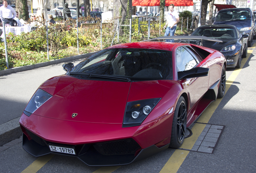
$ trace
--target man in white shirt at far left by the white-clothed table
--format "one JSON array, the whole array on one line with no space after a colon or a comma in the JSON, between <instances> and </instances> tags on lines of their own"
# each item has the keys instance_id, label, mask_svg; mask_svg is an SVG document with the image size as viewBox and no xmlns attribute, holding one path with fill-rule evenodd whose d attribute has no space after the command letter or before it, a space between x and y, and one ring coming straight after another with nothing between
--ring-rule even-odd
<instances>
[{"instance_id":1,"label":"man in white shirt at far left by the white-clothed table","mask_svg":"<svg viewBox=\"0 0 256 173\"><path fill-rule=\"evenodd\" d=\"M14 26L13 19L16 16L16 12L8 5L6 0L3 0L3 4L4 5L0 7L0 19L11 26Z\"/></svg>"}]
</instances>

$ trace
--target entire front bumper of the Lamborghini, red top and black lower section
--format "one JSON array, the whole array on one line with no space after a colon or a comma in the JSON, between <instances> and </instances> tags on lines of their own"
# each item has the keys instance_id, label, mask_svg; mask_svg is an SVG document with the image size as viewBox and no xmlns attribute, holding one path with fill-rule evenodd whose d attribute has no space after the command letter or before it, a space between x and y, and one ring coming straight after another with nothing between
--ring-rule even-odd
<instances>
[{"instance_id":1,"label":"entire front bumper of the Lamborghini, red top and black lower section","mask_svg":"<svg viewBox=\"0 0 256 173\"><path fill-rule=\"evenodd\" d=\"M54 153L78 157L90 166L109 166L126 165L168 148L172 119L173 113L144 125L122 128L122 124L83 123L23 114L20 125L23 149L35 157ZM72 148L75 155L51 151L49 145Z\"/></svg>"}]
</instances>

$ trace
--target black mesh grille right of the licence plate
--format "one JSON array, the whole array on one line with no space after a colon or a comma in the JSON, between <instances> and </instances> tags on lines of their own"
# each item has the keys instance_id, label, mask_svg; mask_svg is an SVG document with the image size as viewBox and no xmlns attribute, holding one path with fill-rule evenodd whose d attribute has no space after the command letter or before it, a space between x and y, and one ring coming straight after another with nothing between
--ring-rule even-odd
<instances>
[{"instance_id":1,"label":"black mesh grille right of the licence plate","mask_svg":"<svg viewBox=\"0 0 256 173\"><path fill-rule=\"evenodd\" d=\"M134 155L140 149L133 139L96 143L93 147L102 155Z\"/></svg>"}]
</instances>

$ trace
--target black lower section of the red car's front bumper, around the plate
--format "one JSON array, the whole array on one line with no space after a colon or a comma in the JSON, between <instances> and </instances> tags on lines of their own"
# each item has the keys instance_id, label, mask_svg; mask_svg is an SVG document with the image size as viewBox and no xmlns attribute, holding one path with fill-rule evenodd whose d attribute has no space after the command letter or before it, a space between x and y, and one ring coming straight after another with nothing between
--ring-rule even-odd
<instances>
[{"instance_id":1,"label":"black lower section of the red car's front bumper, around the plate","mask_svg":"<svg viewBox=\"0 0 256 173\"><path fill-rule=\"evenodd\" d=\"M33 133L26 130L32 137L31 140L23 133L23 149L35 157L48 154L61 154L50 151L49 145L57 145L60 147L74 148L77 157L89 166L115 166L127 165L135 161L145 159L151 155L159 153L169 147L169 144L163 147L152 145L145 149L141 149L138 143L133 139L123 139L117 141L108 141L97 144L83 145L63 145L50 143L37 137Z\"/></svg>"}]
</instances>

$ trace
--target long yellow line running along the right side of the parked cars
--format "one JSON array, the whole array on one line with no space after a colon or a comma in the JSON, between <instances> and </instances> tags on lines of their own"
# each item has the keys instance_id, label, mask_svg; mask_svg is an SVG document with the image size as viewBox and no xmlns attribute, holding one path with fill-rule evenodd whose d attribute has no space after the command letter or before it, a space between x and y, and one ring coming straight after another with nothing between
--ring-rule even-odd
<instances>
[{"instance_id":1,"label":"long yellow line running along the right side of the parked cars","mask_svg":"<svg viewBox=\"0 0 256 173\"><path fill-rule=\"evenodd\" d=\"M252 48L255 48L256 43L254 43ZM243 68L244 64L247 62L248 58L251 56L253 50L248 50L247 51L247 57L242 59L241 62L241 67L238 69L235 69L232 74L229 76L229 78L227 79L226 82L226 91L225 93L227 93L229 87L231 86L231 84L233 84L233 82L235 81L235 78L238 76L239 72L241 71L241 69ZM219 106L219 103L221 103L222 99L217 99L215 102L211 103L207 109L202 113L202 115L200 116L200 118L198 119L198 123L208 123L210 118L212 117L213 113L215 112L215 110L217 109L217 107ZM199 126L198 126L199 125ZM203 125L203 124L202 124ZM183 145L181 146L181 148L184 149L192 149L192 144L194 145L194 143L196 142L195 140L199 137L199 135L201 134L201 132L203 131L204 128L202 128L203 126L200 124L195 124L192 128L192 132L193 135L191 137L188 137L184 140ZM195 127L196 126L196 127ZM195 127L195 128L194 128ZM196 133L194 133L194 131L196 130ZM194 137L193 137L194 136ZM190 139L191 138L191 139ZM191 144L189 144L191 143ZM181 150L176 149L175 152L178 151L179 153L181 152ZM175 153L174 152L174 153ZM186 156L188 155L189 151L182 151L183 153L187 152ZM167 161L167 163L165 164L165 166L162 168L162 170L160 171L160 173L176 173L178 171L178 169L180 168L180 166L182 165L183 161L186 159L186 156L184 158L184 156L182 157L182 159L180 159L179 157L181 157L180 155L174 154L171 155L170 159ZM173 168L173 169L171 169Z\"/></svg>"}]
</instances>

